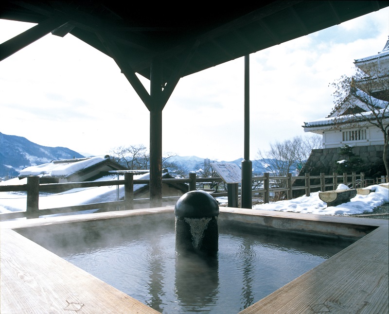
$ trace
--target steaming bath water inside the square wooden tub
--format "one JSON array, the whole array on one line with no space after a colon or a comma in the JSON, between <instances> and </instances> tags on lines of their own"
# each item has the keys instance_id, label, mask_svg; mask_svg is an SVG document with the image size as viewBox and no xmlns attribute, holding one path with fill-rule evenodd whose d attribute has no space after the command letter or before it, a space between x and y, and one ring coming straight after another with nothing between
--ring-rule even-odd
<instances>
[{"instance_id":1,"label":"steaming bath water inside the square wooden tub","mask_svg":"<svg viewBox=\"0 0 389 314\"><path fill-rule=\"evenodd\" d=\"M238 313L351 244L312 235L222 227L217 256L204 258L176 253L174 223L155 226L94 227L85 234L65 232L66 226L55 233L58 227L51 227L46 230L50 237L26 236L169 314Z\"/></svg>"}]
</instances>

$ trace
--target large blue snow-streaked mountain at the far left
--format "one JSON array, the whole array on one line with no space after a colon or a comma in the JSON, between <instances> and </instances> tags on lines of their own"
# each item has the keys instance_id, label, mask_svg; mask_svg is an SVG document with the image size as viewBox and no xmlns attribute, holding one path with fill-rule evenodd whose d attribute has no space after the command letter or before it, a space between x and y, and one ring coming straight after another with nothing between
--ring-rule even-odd
<instances>
[{"instance_id":1,"label":"large blue snow-streaked mountain at the far left","mask_svg":"<svg viewBox=\"0 0 389 314\"><path fill-rule=\"evenodd\" d=\"M82 158L81 154L66 147L48 147L26 138L0 132L0 178L18 176L19 171L52 160Z\"/></svg>"}]
</instances>

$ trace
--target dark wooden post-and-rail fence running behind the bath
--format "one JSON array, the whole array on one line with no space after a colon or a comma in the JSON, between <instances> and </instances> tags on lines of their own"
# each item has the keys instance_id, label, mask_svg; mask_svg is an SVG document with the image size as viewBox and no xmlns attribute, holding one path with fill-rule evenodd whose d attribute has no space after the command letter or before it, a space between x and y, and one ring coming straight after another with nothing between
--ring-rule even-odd
<instances>
[{"instance_id":1,"label":"dark wooden post-and-rail fence running behind the bath","mask_svg":"<svg viewBox=\"0 0 389 314\"><path fill-rule=\"evenodd\" d=\"M293 186L293 181L297 179L303 179L304 186ZM320 184L311 184L311 180L320 180ZM335 190L339 183L352 184L353 188L364 187L364 174L332 174L325 175L320 174L317 176L311 176L305 174L304 176L270 176L265 173L263 176L252 177L252 180L263 181L263 188L254 189L252 193L263 194L263 202L268 203L270 200L271 192L286 192L286 198L291 199L293 197L294 190L305 190L305 195L309 196L312 189L320 189L321 191ZM285 187L274 188L273 182L276 180L286 180ZM188 191L196 190L196 184L201 182L223 182L220 177L212 178L197 178L195 173L190 173L188 178L182 179L162 179L162 183L188 183ZM330 181L330 183L328 183ZM148 198L134 199L134 184L148 184L148 179L134 180L132 173L125 173L124 180L109 180L109 181L89 181L89 182L70 182L70 183L46 183L40 184L38 176L27 177L27 184L24 185L0 185L0 192L27 192L27 204L26 211L10 212L0 214L1 220L8 220L20 217L36 218L42 215L68 213L73 211L81 211L88 209L99 209L100 211L110 211L118 207L124 207L124 209L134 209L135 204L147 204ZM64 190L70 190L75 188L88 188L88 187L102 187L102 186L114 186L124 185L124 200L74 205L67 207L58 207L50 209L39 209L39 191L45 192L58 192ZM228 184L227 192L214 192L213 197L228 196L228 206L238 207L238 184ZM162 197L162 201L177 201L180 196L168 196Z\"/></svg>"}]
</instances>

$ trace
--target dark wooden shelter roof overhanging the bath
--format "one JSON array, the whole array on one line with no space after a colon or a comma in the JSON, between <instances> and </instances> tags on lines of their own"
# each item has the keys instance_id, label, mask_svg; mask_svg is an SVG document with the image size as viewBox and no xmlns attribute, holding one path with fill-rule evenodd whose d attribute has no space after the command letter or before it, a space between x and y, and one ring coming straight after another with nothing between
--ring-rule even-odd
<instances>
[{"instance_id":1,"label":"dark wooden shelter roof overhanging the bath","mask_svg":"<svg viewBox=\"0 0 389 314\"><path fill-rule=\"evenodd\" d=\"M248 2L248 1L246 1ZM38 23L2 45L4 57L53 32L69 32L150 78L163 64L163 83L377 11L389 1L251 1L211 6L166 2L2 1L1 18ZM55 31L54 31L55 30ZM24 42L23 42L24 41Z\"/></svg>"}]
</instances>

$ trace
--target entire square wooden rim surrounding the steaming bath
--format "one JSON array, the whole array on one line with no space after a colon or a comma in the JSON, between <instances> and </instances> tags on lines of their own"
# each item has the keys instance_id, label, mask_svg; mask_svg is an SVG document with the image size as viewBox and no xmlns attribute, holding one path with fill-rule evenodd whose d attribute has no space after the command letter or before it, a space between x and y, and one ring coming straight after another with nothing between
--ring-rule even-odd
<instances>
[{"instance_id":1,"label":"entire square wooden rim surrounding the steaming bath","mask_svg":"<svg viewBox=\"0 0 389 314\"><path fill-rule=\"evenodd\" d=\"M26 239L12 229L145 214L169 214L173 207L115 211L0 223L0 313L158 313ZM265 227L325 232L332 236L368 235L332 258L248 307L241 314L273 313L388 313L387 220L333 217L251 209L221 208L222 219ZM116 219L115 219L116 218Z\"/></svg>"}]
</instances>

